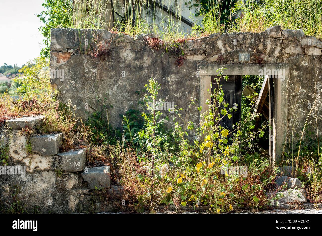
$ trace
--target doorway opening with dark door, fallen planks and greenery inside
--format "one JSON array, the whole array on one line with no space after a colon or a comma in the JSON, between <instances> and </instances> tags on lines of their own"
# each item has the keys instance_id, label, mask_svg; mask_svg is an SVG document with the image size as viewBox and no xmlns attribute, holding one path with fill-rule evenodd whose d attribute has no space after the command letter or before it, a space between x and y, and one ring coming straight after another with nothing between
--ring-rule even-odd
<instances>
[{"instance_id":1,"label":"doorway opening with dark door, fallen planks and greenery inside","mask_svg":"<svg viewBox=\"0 0 322 236\"><path fill-rule=\"evenodd\" d=\"M266 81L264 88L265 76L260 75L229 75L228 79L221 79L219 84L223 90L223 99L228 103L226 110L232 109L231 115L222 116L219 124L221 127L229 130L228 139L233 137L233 134L237 132L237 125L240 121L247 120L244 129L247 132L257 132L258 129L263 128L260 137L254 140L254 144L251 145L251 152L258 152L268 156L271 156L270 150L272 149L272 129L269 128L270 120L272 123L273 108L274 108L274 84L273 79L269 78ZM212 92L214 88L218 86L218 76L211 76ZM269 83L269 84L267 84ZM264 86L264 87L263 87ZM268 87L269 86L269 90ZM266 94L260 94L261 90ZM258 97L263 104L261 104L260 110L258 110L258 104L256 101ZM211 98L213 103L213 98ZM270 104L270 105L269 105ZM257 107L256 107L257 106ZM237 108L237 109L236 109ZM257 110L256 110L257 109ZM247 119L250 113L260 113L259 117L255 117L251 120ZM270 113L270 114L269 114ZM231 143L231 142L230 142Z\"/></svg>"}]
</instances>

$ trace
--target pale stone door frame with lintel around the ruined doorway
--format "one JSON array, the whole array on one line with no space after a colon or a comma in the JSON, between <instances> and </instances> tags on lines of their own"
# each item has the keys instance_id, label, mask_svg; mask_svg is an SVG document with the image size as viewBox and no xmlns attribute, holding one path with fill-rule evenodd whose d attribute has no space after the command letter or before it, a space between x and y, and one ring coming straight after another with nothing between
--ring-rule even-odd
<instances>
[{"instance_id":1,"label":"pale stone door frame with lintel around the ruined doorway","mask_svg":"<svg viewBox=\"0 0 322 236\"><path fill-rule=\"evenodd\" d=\"M202 106L201 113L207 110L206 101L210 101L211 91L211 76L218 75L217 70L220 68L227 68L223 70L223 75L272 75L276 71L282 72L273 76L274 83L274 107L273 107L273 145L272 145L272 159L273 164L279 161L282 155L282 148L286 139L287 125L288 125L288 103L287 103L287 85L289 80L289 65L288 64L225 64L215 65L207 64L198 67L200 76L200 100L199 105Z\"/></svg>"}]
</instances>

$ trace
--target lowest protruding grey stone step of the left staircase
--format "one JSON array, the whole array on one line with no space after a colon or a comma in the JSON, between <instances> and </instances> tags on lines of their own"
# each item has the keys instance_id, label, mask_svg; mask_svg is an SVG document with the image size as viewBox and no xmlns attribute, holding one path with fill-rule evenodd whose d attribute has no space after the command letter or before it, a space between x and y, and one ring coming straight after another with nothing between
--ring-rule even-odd
<instances>
[{"instance_id":1,"label":"lowest protruding grey stone step of the left staircase","mask_svg":"<svg viewBox=\"0 0 322 236\"><path fill-rule=\"evenodd\" d=\"M91 189L95 189L95 187L109 188L111 185L111 168L110 166L88 168L82 173L82 177Z\"/></svg>"}]
</instances>

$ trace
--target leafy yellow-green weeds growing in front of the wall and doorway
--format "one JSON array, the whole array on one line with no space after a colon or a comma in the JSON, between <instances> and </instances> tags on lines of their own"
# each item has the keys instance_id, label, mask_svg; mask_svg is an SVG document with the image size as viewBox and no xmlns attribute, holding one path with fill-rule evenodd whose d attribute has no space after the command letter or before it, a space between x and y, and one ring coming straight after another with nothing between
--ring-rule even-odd
<instances>
[{"instance_id":1,"label":"leafy yellow-green weeds growing in front of the wall and doorway","mask_svg":"<svg viewBox=\"0 0 322 236\"><path fill-rule=\"evenodd\" d=\"M241 147L248 146L261 130L253 132L245 127L253 118L251 114L235 124L235 130L220 125L223 117L232 118L232 112L237 108L228 109L220 85L220 80L227 80L227 76L223 76L223 69L218 74L213 92L209 92L213 103L207 101L204 104L208 109L201 114L200 126L196 127L192 122L182 123L181 109L174 109L175 128L171 135L163 132L160 126L165 121L162 112L157 109L162 102L157 99L160 84L151 78L146 85L144 102L148 113L142 114L145 125L137 134L144 140L146 149L144 158L138 156L137 161L147 172L135 171L141 168L128 159L123 167L128 174L122 179L125 189L137 189L137 195L132 195L136 197L134 208L137 211L149 205L151 195L156 204L211 205L217 213L231 211L232 204L248 207L266 205L265 190L271 188L274 170L268 160L252 156L241 158ZM197 109L200 111L202 108ZM200 140L192 142L189 134L200 137ZM223 166L232 167L242 162L249 164L249 176L242 178L221 174ZM169 168L172 163L173 167ZM131 166L136 166L135 170Z\"/></svg>"}]
</instances>

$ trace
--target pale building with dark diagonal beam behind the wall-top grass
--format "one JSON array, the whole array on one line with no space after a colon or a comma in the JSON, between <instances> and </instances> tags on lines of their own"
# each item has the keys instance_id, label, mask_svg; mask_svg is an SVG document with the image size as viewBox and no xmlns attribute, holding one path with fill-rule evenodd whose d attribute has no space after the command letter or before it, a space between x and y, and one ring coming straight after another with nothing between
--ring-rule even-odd
<instances>
[{"instance_id":1,"label":"pale building with dark diagonal beam behind the wall-top grass","mask_svg":"<svg viewBox=\"0 0 322 236\"><path fill-rule=\"evenodd\" d=\"M95 0L92 0L95 2ZM146 20L149 25L155 24L160 31L166 27L175 27L183 32L191 30L191 26L202 20L202 16L196 16L200 11L200 2L196 0L97 0L95 9L98 18L105 19L106 30L114 26L118 29L125 22L134 22L138 18ZM74 0L74 9L80 9L78 17L86 15L87 9L84 5L77 5L82 0ZM103 11L101 9L104 8ZM77 21L77 20L76 20ZM114 24L113 22L119 22ZM171 22L169 24L169 22ZM172 24L172 25L171 25Z\"/></svg>"}]
</instances>

